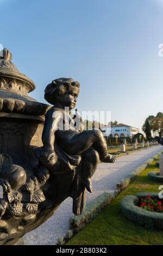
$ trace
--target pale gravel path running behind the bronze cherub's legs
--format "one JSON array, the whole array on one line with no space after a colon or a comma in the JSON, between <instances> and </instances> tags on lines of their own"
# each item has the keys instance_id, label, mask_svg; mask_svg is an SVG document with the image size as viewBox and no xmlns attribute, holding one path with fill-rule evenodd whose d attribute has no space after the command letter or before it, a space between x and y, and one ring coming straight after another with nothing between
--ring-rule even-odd
<instances>
[{"instance_id":1,"label":"pale gravel path running behind the bronze cherub's legs","mask_svg":"<svg viewBox=\"0 0 163 256\"><path fill-rule=\"evenodd\" d=\"M114 191L118 181L161 150L163 150L161 145L155 145L129 155L120 156L114 164L99 163L96 173L92 177L94 191L93 193L86 192L86 204L103 192ZM24 236L26 245L54 245L58 237L64 236L69 229L71 216L72 198L67 198L51 218Z\"/></svg>"}]
</instances>

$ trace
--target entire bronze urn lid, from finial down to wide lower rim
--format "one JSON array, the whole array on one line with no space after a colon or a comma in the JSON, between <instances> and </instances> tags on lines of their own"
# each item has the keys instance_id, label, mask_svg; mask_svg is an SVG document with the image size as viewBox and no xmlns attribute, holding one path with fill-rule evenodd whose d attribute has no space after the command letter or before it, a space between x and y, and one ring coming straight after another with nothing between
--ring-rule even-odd
<instances>
[{"instance_id":1,"label":"entire bronze urn lid, from finial down to wide lower rim","mask_svg":"<svg viewBox=\"0 0 163 256\"><path fill-rule=\"evenodd\" d=\"M0 55L0 117L1 112L45 115L49 106L28 95L35 89L35 84L17 69L11 59L11 52L4 48Z\"/></svg>"}]
</instances>

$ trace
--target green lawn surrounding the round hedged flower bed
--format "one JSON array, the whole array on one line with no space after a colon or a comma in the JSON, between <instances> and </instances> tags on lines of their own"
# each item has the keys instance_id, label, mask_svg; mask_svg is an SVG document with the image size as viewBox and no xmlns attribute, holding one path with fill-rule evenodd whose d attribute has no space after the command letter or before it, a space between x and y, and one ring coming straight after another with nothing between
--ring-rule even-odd
<instances>
[{"instance_id":1,"label":"green lawn surrounding the round hedged flower bed","mask_svg":"<svg viewBox=\"0 0 163 256\"><path fill-rule=\"evenodd\" d=\"M91 223L74 235L66 245L163 245L163 230L150 230L123 217L120 203L127 194L137 192L159 192L147 174L155 166L154 161L115 200L108 205Z\"/></svg>"}]
</instances>

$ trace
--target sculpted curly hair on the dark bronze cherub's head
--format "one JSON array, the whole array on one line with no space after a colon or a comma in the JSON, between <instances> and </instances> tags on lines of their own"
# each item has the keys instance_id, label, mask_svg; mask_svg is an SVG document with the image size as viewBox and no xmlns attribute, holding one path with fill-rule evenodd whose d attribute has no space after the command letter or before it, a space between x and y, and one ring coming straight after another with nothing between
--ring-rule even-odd
<instances>
[{"instance_id":1,"label":"sculpted curly hair on the dark bronze cherub's head","mask_svg":"<svg viewBox=\"0 0 163 256\"><path fill-rule=\"evenodd\" d=\"M72 78L58 78L49 83L45 88L45 99L50 104L54 105L57 96L68 93L69 88L73 86L80 87L79 82L74 81Z\"/></svg>"}]
</instances>

